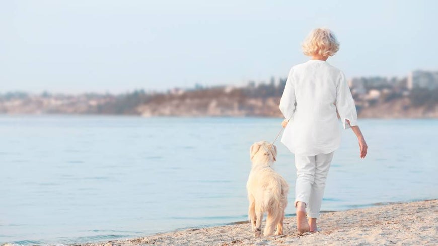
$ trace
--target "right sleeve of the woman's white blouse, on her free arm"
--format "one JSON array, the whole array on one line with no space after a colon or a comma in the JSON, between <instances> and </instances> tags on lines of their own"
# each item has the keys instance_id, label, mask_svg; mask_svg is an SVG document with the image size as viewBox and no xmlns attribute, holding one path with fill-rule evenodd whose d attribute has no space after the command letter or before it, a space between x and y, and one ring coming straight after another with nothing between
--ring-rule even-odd
<instances>
[{"instance_id":1,"label":"right sleeve of the woman's white blouse, on her free arm","mask_svg":"<svg viewBox=\"0 0 438 246\"><path fill-rule=\"evenodd\" d=\"M341 71L336 84L336 108L344 129L357 126L357 111L353 96L347 85L345 74ZM350 122L348 125L347 120Z\"/></svg>"}]
</instances>

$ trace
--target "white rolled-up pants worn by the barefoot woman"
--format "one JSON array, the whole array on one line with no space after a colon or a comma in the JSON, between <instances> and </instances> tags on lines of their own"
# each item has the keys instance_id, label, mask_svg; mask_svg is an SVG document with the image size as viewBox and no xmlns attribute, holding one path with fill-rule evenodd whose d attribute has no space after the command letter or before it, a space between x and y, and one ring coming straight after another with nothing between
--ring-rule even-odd
<instances>
[{"instance_id":1,"label":"white rolled-up pants worn by the barefoot woman","mask_svg":"<svg viewBox=\"0 0 438 246\"><path fill-rule=\"evenodd\" d=\"M297 202L306 203L309 218L319 218L325 181L333 153L315 156L295 155L295 167L297 168L295 207L297 207Z\"/></svg>"}]
</instances>

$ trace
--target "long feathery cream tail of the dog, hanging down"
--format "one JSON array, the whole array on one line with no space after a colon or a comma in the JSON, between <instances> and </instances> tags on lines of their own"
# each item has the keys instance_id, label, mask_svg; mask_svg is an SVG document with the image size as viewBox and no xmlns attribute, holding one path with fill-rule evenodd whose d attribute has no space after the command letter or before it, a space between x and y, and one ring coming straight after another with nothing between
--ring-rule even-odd
<instances>
[{"instance_id":1,"label":"long feathery cream tail of the dog, hanging down","mask_svg":"<svg viewBox=\"0 0 438 246\"><path fill-rule=\"evenodd\" d=\"M284 210L287 206L287 193L289 192L289 185L283 179L278 184L278 189L273 193L272 199L269 202L268 217L266 218L266 226L264 236L271 236L274 234L276 225L278 225L284 218Z\"/></svg>"}]
</instances>

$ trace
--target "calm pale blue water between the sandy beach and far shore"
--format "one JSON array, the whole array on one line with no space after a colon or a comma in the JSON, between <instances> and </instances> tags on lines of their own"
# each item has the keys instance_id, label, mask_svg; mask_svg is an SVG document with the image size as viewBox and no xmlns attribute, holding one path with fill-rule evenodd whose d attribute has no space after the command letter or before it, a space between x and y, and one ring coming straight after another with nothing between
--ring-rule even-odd
<instances>
[{"instance_id":1,"label":"calm pale blue water between the sandy beach and far shore","mask_svg":"<svg viewBox=\"0 0 438 246\"><path fill-rule=\"evenodd\" d=\"M0 116L0 244L104 241L247 220L249 148L273 141L281 121ZM322 210L438 198L438 120L359 125L367 158L343 130ZM291 215L294 155L275 144Z\"/></svg>"}]
</instances>

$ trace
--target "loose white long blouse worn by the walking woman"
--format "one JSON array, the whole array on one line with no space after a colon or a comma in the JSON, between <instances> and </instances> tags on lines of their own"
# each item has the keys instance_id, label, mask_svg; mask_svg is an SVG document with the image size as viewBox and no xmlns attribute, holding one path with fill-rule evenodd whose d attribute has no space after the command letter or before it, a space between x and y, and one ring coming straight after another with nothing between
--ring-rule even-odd
<instances>
[{"instance_id":1,"label":"loose white long blouse worn by the walking woman","mask_svg":"<svg viewBox=\"0 0 438 246\"><path fill-rule=\"evenodd\" d=\"M354 100L345 74L322 60L293 66L280 100L280 111L289 120L281 142L295 154L330 153L341 143L339 113L344 129L357 125Z\"/></svg>"}]
</instances>

